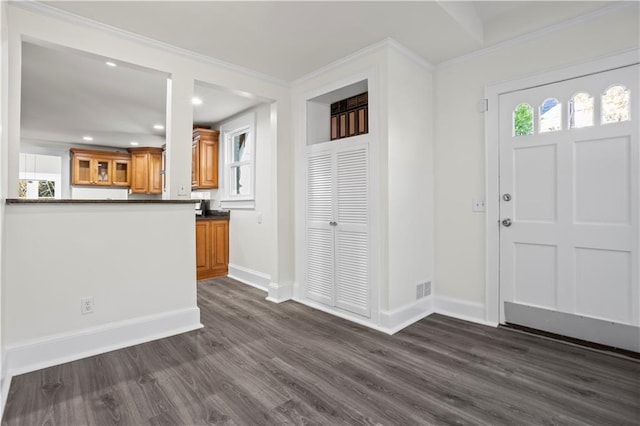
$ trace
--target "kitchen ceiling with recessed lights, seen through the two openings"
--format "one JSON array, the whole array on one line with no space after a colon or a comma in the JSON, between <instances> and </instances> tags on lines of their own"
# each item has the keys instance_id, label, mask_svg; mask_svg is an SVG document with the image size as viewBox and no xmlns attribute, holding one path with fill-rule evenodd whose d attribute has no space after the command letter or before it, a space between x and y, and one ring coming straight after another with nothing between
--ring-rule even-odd
<instances>
[{"instance_id":1,"label":"kitchen ceiling with recessed lights, seen through the two openings","mask_svg":"<svg viewBox=\"0 0 640 426\"><path fill-rule=\"evenodd\" d=\"M166 122L167 74L46 43L22 46L21 132L27 143L165 143L165 130L154 125ZM202 104L194 105L193 121L208 126L262 102L199 82L194 95Z\"/></svg>"}]
</instances>

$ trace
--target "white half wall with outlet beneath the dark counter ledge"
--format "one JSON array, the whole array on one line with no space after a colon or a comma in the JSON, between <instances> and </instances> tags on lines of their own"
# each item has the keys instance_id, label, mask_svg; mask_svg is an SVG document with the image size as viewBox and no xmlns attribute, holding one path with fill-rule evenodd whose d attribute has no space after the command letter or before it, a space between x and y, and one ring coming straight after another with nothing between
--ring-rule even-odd
<instances>
[{"instance_id":1,"label":"white half wall with outlet beneath the dark counter ledge","mask_svg":"<svg viewBox=\"0 0 640 426\"><path fill-rule=\"evenodd\" d=\"M7 205L5 219L6 346L196 307L191 204Z\"/></svg>"}]
</instances>

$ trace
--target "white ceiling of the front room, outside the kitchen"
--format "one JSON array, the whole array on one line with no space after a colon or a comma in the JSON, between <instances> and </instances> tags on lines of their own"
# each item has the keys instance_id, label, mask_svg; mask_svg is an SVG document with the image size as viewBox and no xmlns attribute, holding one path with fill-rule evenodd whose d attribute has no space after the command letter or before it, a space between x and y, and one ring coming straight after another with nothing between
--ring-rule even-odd
<instances>
[{"instance_id":1,"label":"white ceiling of the front room, outside the kitchen","mask_svg":"<svg viewBox=\"0 0 640 426\"><path fill-rule=\"evenodd\" d=\"M52 1L52 7L294 81L393 38L432 64L610 1ZM170 25L168 25L170 23Z\"/></svg>"}]
</instances>

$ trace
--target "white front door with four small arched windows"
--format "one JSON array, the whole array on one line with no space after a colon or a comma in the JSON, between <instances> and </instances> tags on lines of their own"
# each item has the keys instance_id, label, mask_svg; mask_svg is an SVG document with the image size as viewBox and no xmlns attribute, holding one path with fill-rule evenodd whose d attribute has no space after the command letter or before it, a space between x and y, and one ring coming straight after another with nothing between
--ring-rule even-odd
<instances>
[{"instance_id":1,"label":"white front door with four small arched windows","mask_svg":"<svg viewBox=\"0 0 640 426\"><path fill-rule=\"evenodd\" d=\"M500 95L500 320L640 351L638 65Z\"/></svg>"}]
</instances>

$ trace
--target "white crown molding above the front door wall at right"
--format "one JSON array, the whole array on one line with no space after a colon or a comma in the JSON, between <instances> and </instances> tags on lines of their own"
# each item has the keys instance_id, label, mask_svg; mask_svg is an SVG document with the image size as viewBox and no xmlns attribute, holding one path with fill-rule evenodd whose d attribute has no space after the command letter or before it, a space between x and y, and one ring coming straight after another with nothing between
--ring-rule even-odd
<instances>
[{"instance_id":1,"label":"white crown molding above the front door wall at right","mask_svg":"<svg viewBox=\"0 0 640 426\"><path fill-rule=\"evenodd\" d=\"M509 40L505 40L505 41L502 41L500 43L496 43L494 45L491 45L489 47L485 47L484 49L475 50L475 51L473 51L471 53L468 53L466 55L458 56L456 58L440 62L439 64L436 65L435 68L437 70L445 69L445 68L448 68L448 67L453 66L453 65L457 65L457 64L460 64L460 63L464 63L464 62L470 61L470 60L475 59L475 58L479 58L479 57L484 56L484 55L488 55L488 54L496 52L498 50L507 49L507 48L510 48L510 47L517 46L518 44L521 44L521 43L526 43L526 42L529 42L529 41L533 41L533 40L545 37L545 36L547 36L549 34L557 32L557 31L564 30L564 29L567 29L567 28L571 28L571 27L574 27L576 25L592 21L592 20L597 19L597 18L599 18L601 16L605 16L605 15L608 15L608 14L613 13L613 12L617 12L617 11L620 11L620 10L624 10L624 9L627 9L627 8L634 7L635 5L637 5L636 1L620 1L620 2L616 2L616 3L614 3L614 4L610 5L610 6L605 6L605 7L602 7L600 9L598 9L598 10L594 10L592 12L585 13L584 15L580 15L580 16L577 16L575 18L568 19L566 21L563 21L563 22L560 22L560 23L557 23L557 24L549 25L547 27L541 28L541 29L536 30L536 31L532 31L530 33L522 34L520 36L511 38Z\"/></svg>"}]
</instances>

